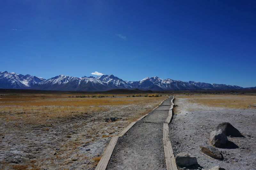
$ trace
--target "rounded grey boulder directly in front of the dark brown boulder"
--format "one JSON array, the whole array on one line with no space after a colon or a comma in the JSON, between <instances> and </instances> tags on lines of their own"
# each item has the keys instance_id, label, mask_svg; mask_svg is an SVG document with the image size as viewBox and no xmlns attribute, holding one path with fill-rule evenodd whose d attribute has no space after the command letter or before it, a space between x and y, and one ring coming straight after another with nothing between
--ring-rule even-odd
<instances>
[{"instance_id":1,"label":"rounded grey boulder directly in front of the dark brown boulder","mask_svg":"<svg viewBox=\"0 0 256 170\"><path fill-rule=\"evenodd\" d=\"M228 142L227 135L220 129L211 132L210 141L213 146L224 147Z\"/></svg>"}]
</instances>

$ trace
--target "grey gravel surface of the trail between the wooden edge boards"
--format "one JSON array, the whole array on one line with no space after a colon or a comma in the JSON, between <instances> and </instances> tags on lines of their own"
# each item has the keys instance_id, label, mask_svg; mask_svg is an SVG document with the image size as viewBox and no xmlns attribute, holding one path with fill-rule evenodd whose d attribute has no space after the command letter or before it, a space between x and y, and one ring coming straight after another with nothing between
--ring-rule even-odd
<instances>
[{"instance_id":1,"label":"grey gravel surface of the trail between the wooden edge boards","mask_svg":"<svg viewBox=\"0 0 256 170\"><path fill-rule=\"evenodd\" d=\"M166 169L163 123L171 99L172 96L118 139L106 169Z\"/></svg>"}]
</instances>

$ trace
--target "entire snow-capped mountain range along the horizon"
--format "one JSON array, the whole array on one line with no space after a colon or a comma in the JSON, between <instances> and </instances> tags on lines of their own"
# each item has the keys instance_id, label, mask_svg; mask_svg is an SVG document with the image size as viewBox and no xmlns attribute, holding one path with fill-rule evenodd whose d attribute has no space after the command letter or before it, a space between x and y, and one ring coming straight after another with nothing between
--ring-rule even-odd
<instances>
[{"instance_id":1,"label":"entire snow-capped mountain range along the horizon","mask_svg":"<svg viewBox=\"0 0 256 170\"><path fill-rule=\"evenodd\" d=\"M226 84L210 84L195 81L175 81L146 77L141 81L123 81L113 74L100 77L70 77L59 75L51 79L0 72L0 89L37 89L60 91L106 91L111 89L141 90L203 90L203 89L244 89L240 86Z\"/></svg>"}]
</instances>

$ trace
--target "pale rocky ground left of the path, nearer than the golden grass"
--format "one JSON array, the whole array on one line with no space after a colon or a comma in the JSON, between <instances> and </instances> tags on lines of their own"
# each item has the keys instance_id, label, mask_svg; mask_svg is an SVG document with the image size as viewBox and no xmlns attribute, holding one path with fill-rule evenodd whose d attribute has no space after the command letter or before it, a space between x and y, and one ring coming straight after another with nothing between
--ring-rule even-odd
<instances>
[{"instance_id":1,"label":"pale rocky ground left of the path, nearer than the golden grass","mask_svg":"<svg viewBox=\"0 0 256 170\"><path fill-rule=\"evenodd\" d=\"M112 135L119 134L130 122L150 112L168 97L157 97L149 103L104 105L101 111L92 110L77 117L49 120L47 125L0 119L0 169L92 170ZM15 113L0 110L0 114L8 116ZM106 117L127 120L105 122Z\"/></svg>"}]
</instances>

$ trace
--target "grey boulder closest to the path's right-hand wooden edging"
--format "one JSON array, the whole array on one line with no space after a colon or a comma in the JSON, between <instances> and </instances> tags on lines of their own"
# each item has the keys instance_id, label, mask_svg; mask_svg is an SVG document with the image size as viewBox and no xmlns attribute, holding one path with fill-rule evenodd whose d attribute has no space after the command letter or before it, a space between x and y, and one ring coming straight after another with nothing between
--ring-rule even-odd
<instances>
[{"instance_id":1,"label":"grey boulder closest to the path's right-hand wooden edging","mask_svg":"<svg viewBox=\"0 0 256 170\"><path fill-rule=\"evenodd\" d=\"M197 159L196 157L192 157L189 153L186 152L180 152L175 157L176 164L179 166L190 166L190 165L196 165Z\"/></svg>"}]
</instances>

